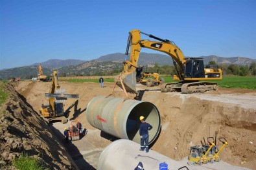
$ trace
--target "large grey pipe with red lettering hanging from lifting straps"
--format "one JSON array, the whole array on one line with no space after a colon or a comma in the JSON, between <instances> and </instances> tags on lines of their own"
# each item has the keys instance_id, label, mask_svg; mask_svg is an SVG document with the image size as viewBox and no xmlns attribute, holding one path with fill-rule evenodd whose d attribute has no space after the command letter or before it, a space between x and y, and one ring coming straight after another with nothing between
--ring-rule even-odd
<instances>
[{"instance_id":1,"label":"large grey pipe with red lettering hanging from lifting straps","mask_svg":"<svg viewBox=\"0 0 256 170\"><path fill-rule=\"evenodd\" d=\"M157 107L148 101L125 100L113 96L96 96L89 101L86 109L87 121L93 127L117 138L140 143L139 117L153 126L149 131L149 143L156 140L161 127Z\"/></svg>"}]
</instances>

